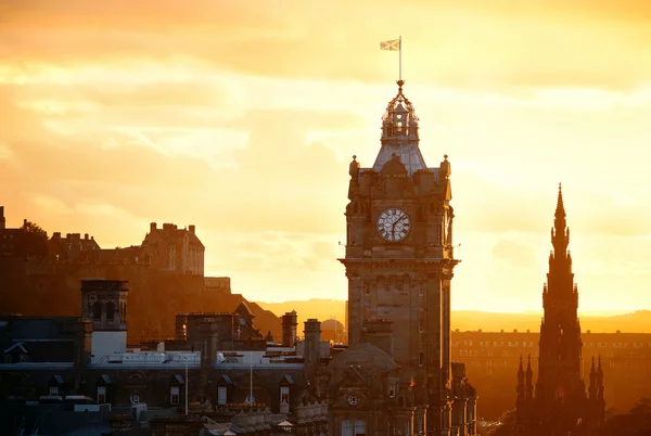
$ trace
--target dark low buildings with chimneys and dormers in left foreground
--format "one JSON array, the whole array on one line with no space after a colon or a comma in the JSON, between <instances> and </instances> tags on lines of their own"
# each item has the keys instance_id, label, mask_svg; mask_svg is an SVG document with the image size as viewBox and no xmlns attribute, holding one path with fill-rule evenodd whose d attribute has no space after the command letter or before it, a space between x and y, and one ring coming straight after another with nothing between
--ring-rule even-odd
<instances>
[{"instance_id":1,"label":"dark low buildings with chimneys and dormers in left foreground","mask_svg":"<svg viewBox=\"0 0 651 436\"><path fill-rule=\"evenodd\" d=\"M0 318L1 434L107 424L142 431L141 422L183 414L186 407L191 418L207 416L215 432L327 432L327 402L309 387L330 360L317 320L306 322L306 339L292 347L266 344L241 304L231 313L180 313L180 337L169 347L129 348L127 283L87 279L80 287L82 318ZM188 429L190 422L196 424L154 420L151 428Z\"/></svg>"}]
</instances>

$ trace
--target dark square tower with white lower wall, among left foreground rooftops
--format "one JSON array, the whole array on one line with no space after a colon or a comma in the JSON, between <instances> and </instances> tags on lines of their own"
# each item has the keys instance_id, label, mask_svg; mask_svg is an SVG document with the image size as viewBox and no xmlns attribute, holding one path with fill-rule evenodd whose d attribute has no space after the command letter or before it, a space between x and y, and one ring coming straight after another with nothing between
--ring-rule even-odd
<instances>
[{"instance_id":1,"label":"dark square tower with white lower wall, among left foreground rooftops","mask_svg":"<svg viewBox=\"0 0 651 436\"><path fill-rule=\"evenodd\" d=\"M92 322L91 362L127 350L127 282L82 279L81 317Z\"/></svg>"}]
</instances>

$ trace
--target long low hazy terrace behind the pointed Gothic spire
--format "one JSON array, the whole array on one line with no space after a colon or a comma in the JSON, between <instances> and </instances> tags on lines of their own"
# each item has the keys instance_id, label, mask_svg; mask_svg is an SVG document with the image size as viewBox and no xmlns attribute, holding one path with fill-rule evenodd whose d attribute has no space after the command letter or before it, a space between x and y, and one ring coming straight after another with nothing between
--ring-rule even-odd
<instances>
[{"instance_id":1,"label":"long low hazy terrace behind the pointed Gothic spire","mask_svg":"<svg viewBox=\"0 0 651 436\"><path fill-rule=\"evenodd\" d=\"M468 375L482 393L480 415L497 420L513 408L513 383L521 356L532 357L538 371L539 332L523 330L487 332L452 331L452 358L465 363ZM583 373L590 373L592 356L601 356L608 377L603 380L603 399L608 408L625 413L635 401L651 392L651 333L582 334Z\"/></svg>"}]
</instances>

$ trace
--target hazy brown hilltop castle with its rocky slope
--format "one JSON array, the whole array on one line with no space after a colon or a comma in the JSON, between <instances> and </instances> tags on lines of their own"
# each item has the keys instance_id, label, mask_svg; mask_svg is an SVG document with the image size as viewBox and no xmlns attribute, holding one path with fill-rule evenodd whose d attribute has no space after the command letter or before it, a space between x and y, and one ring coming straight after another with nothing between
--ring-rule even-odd
<instances>
[{"instance_id":1,"label":"hazy brown hilltop castle with its rocky slope","mask_svg":"<svg viewBox=\"0 0 651 436\"><path fill-rule=\"evenodd\" d=\"M128 342L171 338L174 324L168 320L177 312L200 312L206 307L227 312L246 302L231 293L230 278L203 275L204 246L195 230L152 223L140 245L103 249L89 234L54 233L48 240L41 233L26 238L22 228L0 229L0 308L30 317L76 316L79 280L123 280L131 288ZM46 254L30 255L37 252ZM280 338L279 318L246 303L257 326Z\"/></svg>"}]
</instances>

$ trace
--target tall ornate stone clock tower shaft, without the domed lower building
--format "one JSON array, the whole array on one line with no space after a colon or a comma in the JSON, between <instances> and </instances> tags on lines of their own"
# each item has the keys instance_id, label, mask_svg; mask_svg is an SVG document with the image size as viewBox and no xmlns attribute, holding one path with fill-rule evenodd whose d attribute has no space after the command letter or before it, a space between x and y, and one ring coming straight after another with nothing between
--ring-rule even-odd
<instances>
[{"instance_id":1,"label":"tall ornate stone clock tower shaft, without the domed lower building","mask_svg":"<svg viewBox=\"0 0 651 436\"><path fill-rule=\"evenodd\" d=\"M425 164L419 119L404 81L397 85L382 117L373 166L362 168L353 156L349 167L346 256L340 259L348 279L348 341L350 347L363 341L373 321L391 323L399 386L426 392L427 434L447 435L455 426L450 284L459 262L451 171L447 155L437 168Z\"/></svg>"}]
</instances>

